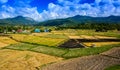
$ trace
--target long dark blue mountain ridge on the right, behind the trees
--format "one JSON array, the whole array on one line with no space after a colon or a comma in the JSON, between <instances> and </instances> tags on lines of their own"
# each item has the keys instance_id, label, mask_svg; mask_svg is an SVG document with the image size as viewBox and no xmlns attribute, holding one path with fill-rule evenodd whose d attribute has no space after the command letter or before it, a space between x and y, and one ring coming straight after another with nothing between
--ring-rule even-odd
<instances>
[{"instance_id":1,"label":"long dark blue mountain ridge on the right, behind the trees","mask_svg":"<svg viewBox=\"0 0 120 70\"><path fill-rule=\"evenodd\" d=\"M43 26L58 26L58 25L76 25L83 23L120 23L120 16L109 17L90 17L76 15L65 19L54 19L40 22L38 25Z\"/></svg>"}]
</instances>

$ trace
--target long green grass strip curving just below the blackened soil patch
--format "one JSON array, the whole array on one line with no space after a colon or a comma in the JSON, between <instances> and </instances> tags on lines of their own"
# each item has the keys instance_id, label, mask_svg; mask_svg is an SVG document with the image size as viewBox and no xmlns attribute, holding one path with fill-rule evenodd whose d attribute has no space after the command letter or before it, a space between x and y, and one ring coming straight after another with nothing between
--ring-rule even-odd
<instances>
[{"instance_id":1,"label":"long green grass strip curving just below the blackened soil patch","mask_svg":"<svg viewBox=\"0 0 120 70\"><path fill-rule=\"evenodd\" d=\"M75 57L81 57L81 56L96 55L98 53L107 51L113 47L120 47L120 44L106 45L106 46L95 47L95 48L63 49L58 47L47 47L47 46L21 43L21 44L10 45L10 46L4 47L3 49L28 50L28 51L34 51L34 52L39 52L39 53L44 53L48 55L69 59L69 58L75 58Z\"/></svg>"}]
</instances>

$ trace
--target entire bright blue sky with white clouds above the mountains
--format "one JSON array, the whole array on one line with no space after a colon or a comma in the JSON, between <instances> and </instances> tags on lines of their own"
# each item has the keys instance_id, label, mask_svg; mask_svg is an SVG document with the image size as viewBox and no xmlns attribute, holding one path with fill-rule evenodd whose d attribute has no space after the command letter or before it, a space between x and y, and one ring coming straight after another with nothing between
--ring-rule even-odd
<instances>
[{"instance_id":1,"label":"entire bright blue sky with white clouds above the mountains","mask_svg":"<svg viewBox=\"0 0 120 70\"><path fill-rule=\"evenodd\" d=\"M0 0L0 19L24 16L36 21L120 16L120 0Z\"/></svg>"}]
</instances>

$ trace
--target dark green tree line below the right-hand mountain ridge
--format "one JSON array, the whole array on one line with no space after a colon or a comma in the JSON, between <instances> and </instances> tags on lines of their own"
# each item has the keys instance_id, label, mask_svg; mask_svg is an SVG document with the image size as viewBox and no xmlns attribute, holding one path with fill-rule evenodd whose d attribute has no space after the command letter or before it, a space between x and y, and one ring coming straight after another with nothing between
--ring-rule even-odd
<instances>
[{"instance_id":1,"label":"dark green tree line below the right-hand mountain ridge","mask_svg":"<svg viewBox=\"0 0 120 70\"><path fill-rule=\"evenodd\" d=\"M61 25L56 30L62 29L95 29L95 30L118 30L120 31L120 24L116 23L81 23L76 25Z\"/></svg>"}]
</instances>

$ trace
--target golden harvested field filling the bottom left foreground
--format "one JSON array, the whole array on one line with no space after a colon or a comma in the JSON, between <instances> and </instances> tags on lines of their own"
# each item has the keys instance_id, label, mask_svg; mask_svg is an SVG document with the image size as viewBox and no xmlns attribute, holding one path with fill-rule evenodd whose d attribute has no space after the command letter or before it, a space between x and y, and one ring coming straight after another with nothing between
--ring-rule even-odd
<instances>
[{"instance_id":1,"label":"golden harvested field filling the bottom left foreground","mask_svg":"<svg viewBox=\"0 0 120 70\"><path fill-rule=\"evenodd\" d=\"M37 70L40 66L63 58L30 51L0 50L0 70Z\"/></svg>"}]
</instances>

